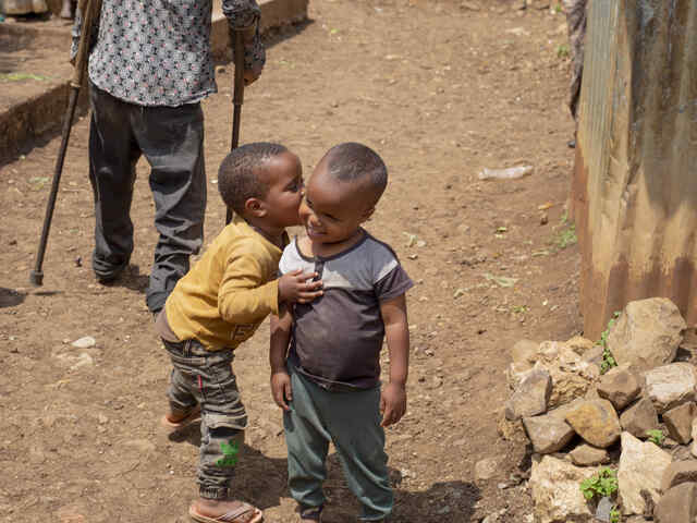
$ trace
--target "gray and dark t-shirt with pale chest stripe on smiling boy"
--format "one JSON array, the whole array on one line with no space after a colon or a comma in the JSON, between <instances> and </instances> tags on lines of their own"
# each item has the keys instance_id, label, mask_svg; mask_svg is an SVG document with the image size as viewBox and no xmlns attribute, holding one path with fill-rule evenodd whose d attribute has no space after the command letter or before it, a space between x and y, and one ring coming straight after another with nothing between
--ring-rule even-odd
<instances>
[{"instance_id":1,"label":"gray and dark t-shirt with pale chest stripe on smiling boy","mask_svg":"<svg viewBox=\"0 0 697 523\"><path fill-rule=\"evenodd\" d=\"M283 251L280 272L317 272L323 295L293 307L290 363L328 390L369 389L380 382L384 325L380 302L414 283L394 251L364 231L363 239L329 257L310 258L297 239Z\"/></svg>"}]
</instances>

